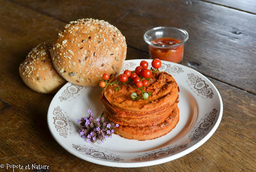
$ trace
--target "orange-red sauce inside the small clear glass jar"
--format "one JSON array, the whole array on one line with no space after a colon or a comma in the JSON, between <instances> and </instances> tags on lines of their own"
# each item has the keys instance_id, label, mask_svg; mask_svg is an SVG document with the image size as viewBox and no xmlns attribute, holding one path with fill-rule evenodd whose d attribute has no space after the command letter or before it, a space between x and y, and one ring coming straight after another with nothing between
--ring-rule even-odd
<instances>
[{"instance_id":1,"label":"orange-red sauce inside the small clear glass jar","mask_svg":"<svg viewBox=\"0 0 256 172\"><path fill-rule=\"evenodd\" d=\"M174 45L180 43L180 41L173 38L160 38L152 41L152 43L157 45ZM182 61L184 44L168 48L149 45L148 48L151 59L157 58L174 63L179 63Z\"/></svg>"}]
</instances>

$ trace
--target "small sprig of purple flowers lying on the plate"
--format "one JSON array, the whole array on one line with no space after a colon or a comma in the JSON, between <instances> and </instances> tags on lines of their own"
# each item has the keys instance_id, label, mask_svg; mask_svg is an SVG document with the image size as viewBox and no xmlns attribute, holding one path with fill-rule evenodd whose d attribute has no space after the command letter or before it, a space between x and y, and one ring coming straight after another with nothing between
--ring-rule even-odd
<instances>
[{"instance_id":1,"label":"small sprig of purple flowers lying on the plate","mask_svg":"<svg viewBox=\"0 0 256 172\"><path fill-rule=\"evenodd\" d=\"M100 118L97 118L96 120L93 119L93 113L90 109L88 109L87 113L89 114L88 117L82 117L81 119L77 119L76 122L80 123L80 130L78 133L83 139L86 139L86 141L95 143L98 139L102 143L104 143L104 140L106 138L112 138L112 133L114 133L115 127L118 127L119 125L113 122L106 122L104 121L104 117L102 113Z\"/></svg>"}]
</instances>

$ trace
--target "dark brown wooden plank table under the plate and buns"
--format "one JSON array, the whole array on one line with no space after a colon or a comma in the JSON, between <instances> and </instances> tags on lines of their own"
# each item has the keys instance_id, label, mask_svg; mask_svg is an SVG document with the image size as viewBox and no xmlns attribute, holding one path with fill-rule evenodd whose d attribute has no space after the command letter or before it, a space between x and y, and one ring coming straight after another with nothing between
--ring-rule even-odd
<instances>
[{"instance_id":1,"label":"dark brown wooden plank table under the plate and buns","mask_svg":"<svg viewBox=\"0 0 256 172\"><path fill-rule=\"evenodd\" d=\"M49 172L256 170L255 0L0 0L0 4L0 164L36 163L48 165ZM207 76L222 96L223 117L214 135L186 156L142 168L101 166L65 151L46 122L54 94L30 90L18 67L33 47L80 18L118 27L128 44L126 59L149 58L143 34L152 27L188 31L181 64Z\"/></svg>"}]
</instances>

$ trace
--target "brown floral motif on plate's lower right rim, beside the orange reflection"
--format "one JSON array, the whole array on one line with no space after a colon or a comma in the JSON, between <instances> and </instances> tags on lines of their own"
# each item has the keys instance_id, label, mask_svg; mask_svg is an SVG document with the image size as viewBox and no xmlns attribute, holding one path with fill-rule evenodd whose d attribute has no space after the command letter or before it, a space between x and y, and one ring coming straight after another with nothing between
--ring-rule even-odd
<instances>
[{"instance_id":1,"label":"brown floral motif on plate's lower right rim, beside the orange reflection","mask_svg":"<svg viewBox=\"0 0 256 172\"><path fill-rule=\"evenodd\" d=\"M195 141L199 137L205 134L205 131L209 129L209 127L213 124L213 121L215 120L217 110L213 109L212 112L209 113L209 115L205 115L204 119L201 119L200 122L196 125L196 130L193 130L192 133L193 137L191 137L190 141ZM199 126L198 126L199 125ZM197 127L198 126L198 127Z\"/></svg>"}]
</instances>

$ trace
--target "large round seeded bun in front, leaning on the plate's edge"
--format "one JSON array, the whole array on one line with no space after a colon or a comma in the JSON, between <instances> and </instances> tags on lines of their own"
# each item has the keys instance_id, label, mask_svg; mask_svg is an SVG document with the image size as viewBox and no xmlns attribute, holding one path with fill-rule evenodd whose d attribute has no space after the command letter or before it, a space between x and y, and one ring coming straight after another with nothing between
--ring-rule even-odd
<instances>
[{"instance_id":1,"label":"large round seeded bun in front, leaning on the plate's edge","mask_svg":"<svg viewBox=\"0 0 256 172\"><path fill-rule=\"evenodd\" d=\"M54 67L67 81L80 86L98 86L104 73L118 75L126 59L122 33L103 20L70 22L51 47Z\"/></svg>"}]
</instances>

